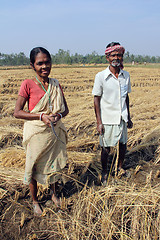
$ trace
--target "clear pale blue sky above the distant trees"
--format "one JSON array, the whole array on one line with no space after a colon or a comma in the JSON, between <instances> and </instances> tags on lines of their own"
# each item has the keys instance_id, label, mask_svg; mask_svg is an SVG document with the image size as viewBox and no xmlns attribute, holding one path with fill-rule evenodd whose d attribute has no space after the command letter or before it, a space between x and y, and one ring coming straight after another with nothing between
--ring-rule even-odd
<instances>
[{"instance_id":1,"label":"clear pale blue sky above the distant trees","mask_svg":"<svg viewBox=\"0 0 160 240\"><path fill-rule=\"evenodd\" d=\"M55 54L96 51L120 42L135 55L160 56L159 0L0 0L0 52L42 46Z\"/></svg>"}]
</instances>

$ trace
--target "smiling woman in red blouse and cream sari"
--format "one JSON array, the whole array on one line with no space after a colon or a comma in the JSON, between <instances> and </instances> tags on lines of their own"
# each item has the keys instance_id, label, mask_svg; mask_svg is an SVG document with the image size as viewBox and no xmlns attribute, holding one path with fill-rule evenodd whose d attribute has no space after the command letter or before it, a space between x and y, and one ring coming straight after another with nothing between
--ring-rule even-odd
<instances>
[{"instance_id":1,"label":"smiling woman in red blouse and cream sari","mask_svg":"<svg viewBox=\"0 0 160 240\"><path fill-rule=\"evenodd\" d=\"M32 49L30 65L36 76L23 81L14 111L16 118L27 120L23 132L26 150L24 183L29 184L37 215L42 214L37 198L37 181L50 185L52 201L59 206L56 185L61 175L57 172L65 167L67 159L67 133L61 118L69 110L60 84L48 77L51 64L51 56L46 49ZM26 102L29 111L24 110Z\"/></svg>"}]
</instances>

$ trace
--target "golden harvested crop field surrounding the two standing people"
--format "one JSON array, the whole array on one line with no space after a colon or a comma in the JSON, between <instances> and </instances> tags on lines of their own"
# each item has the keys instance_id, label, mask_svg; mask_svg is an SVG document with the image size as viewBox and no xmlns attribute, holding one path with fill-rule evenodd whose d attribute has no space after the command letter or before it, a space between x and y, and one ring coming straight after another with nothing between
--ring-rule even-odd
<instances>
[{"instance_id":1,"label":"golden harvested crop field surrounding the two standing people","mask_svg":"<svg viewBox=\"0 0 160 240\"><path fill-rule=\"evenodd\" d=\"M126 66L131 75L130 112L134 127L128 132L125 168L130 177L110 174L99 184L100 148L91 94L95 74L105 66L53 66L70 113L68 164L60 186L62 210L39 186L44 216L32 214L31 199L22 184L25 153L23 121L13 117L21 82L32 78L30 68L0 68L0 236L3 239L159 239L160 237L160 68ZM115 149L111 154L114 157Z\"/></svg>"}]
</instances>

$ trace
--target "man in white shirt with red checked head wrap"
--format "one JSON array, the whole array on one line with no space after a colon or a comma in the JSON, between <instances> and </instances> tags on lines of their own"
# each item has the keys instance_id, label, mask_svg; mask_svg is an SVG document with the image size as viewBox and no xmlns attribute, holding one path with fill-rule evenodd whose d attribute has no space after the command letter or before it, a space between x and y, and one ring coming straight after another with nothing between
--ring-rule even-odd
<instances>
[{"instance_id":1,"label":"man in white shirt with red checked head wrap","mask_svg":"<svg viewBox=\"0 0 160 240\"><path fill-rule=\"evenodd\" d=\"M132 128L129 96L131 92L130 75L122 70L125 49L117 42L107 45L105 55L109 62L107 69L95 77L92 94L100 134L102 182L107 180L107 162L110 147L119 142L118 171L126 173L123 161L126 152L127 127Z\"/></svg>"}]
</instances>

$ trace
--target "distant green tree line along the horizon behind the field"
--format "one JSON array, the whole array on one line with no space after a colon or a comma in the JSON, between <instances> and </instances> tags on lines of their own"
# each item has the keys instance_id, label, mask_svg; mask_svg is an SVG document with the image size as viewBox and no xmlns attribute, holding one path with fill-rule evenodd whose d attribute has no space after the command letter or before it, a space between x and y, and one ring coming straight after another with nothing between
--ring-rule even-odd
<instances>
[{"instance_id":1,"label":"distant green tree line along the horizon behind the field","mask_svg":"<svg viewBox=\"0 0 160 240\"><path fill-rule=\"evenodd\" d=\"M55 55L51 54L53 64L105 64L106 57L105 55L99 55L95 51L91 54L82 54L75 53L74 55L70 54L70 51L59 49L58 53ZM126 52L124 54L124 63L160 63L159 56L142 56L134 55ZM0 53L0 66L20 66L20 65L29 65L30 60L23 52L19 54L3 54Z\"/></svg>"}]
</instances>

